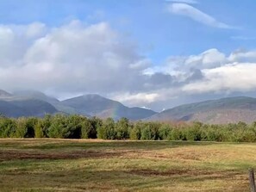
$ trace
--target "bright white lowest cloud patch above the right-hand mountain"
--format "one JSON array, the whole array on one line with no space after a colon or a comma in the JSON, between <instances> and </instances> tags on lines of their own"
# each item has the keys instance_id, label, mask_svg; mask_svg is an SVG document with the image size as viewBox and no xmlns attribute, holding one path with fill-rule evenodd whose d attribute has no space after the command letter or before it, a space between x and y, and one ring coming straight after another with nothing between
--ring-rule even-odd
<instances>
[{"instance_id":1,"label":"bright white lowest cloud patch above the right-hand mountain","mask_svg":"<svg viewBox=\"0 0 256 192\"><path fill-rule=\"evenodd\" d=\"M189 93L217 91L252 91L256 90L256 63L223 65L215 69L203 70L204 79L186 84L182 88Z\"/></svg>"}]
</instances>

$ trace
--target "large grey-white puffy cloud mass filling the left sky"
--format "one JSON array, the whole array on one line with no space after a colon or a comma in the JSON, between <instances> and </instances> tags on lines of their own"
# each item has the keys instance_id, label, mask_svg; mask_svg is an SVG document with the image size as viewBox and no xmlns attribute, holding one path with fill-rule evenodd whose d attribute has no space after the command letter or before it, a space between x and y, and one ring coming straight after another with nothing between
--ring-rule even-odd
<instances>
[{"instance_id":1,"label":"large grey-white puffy cloud mass filling the left sky","mask_svg":"<svg viewBox=\"0 0 256 192\"><path fill-rule=\"evenodd\" d=\"M106 22L87 26L73 21L48 28L46 34L41 33L43 24L30 25L22 34L14 28L22 26L0 28L2 89L74 94L127 90L140 70L150 65L136 53L136 45ZM26 35L29 39L22 38Z\"/></svg>"}]
</instances>

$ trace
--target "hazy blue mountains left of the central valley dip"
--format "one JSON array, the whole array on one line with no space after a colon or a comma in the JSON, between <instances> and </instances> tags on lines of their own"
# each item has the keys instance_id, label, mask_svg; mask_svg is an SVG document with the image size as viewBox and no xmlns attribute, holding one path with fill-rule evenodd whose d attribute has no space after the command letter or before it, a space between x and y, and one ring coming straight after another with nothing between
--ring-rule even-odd
<instances>
[{"instance_id":1,"label":"hazy blue mountains left of the central valley dip","mask_svg":"<svg viewBox=\"0 0 256 192\"><path fill-rule=\"evenodd\" d=\"M0 114L2 115L41 117L45 114L56 113L97 116L103 119L112 117L115 120L126 117L131 121L145 119L156 114L147 108L128 108L121 102L96 94L59 101L39 91L18 91L10 94L5 90L0 90Z\"/></svg>"}]
</instances>

